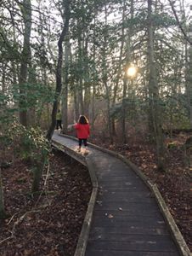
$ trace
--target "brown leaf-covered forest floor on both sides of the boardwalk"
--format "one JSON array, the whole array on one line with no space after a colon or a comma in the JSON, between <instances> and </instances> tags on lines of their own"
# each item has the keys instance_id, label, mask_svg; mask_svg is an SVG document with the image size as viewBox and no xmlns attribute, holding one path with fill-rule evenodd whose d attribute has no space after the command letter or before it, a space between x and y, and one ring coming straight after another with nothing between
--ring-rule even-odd
<instances>
[{"instance_id":1,"label":"brown leaf-covered forest floor on both sides of the boardwalk","mask_svg":"<svg viewBox=\"0 0 192 256\"><path fill-rule=\"evenodd\" d=\"M125 155L152 183L157 184L192 250L189 226L191 177L189 167L184 165L182 145L185 140L184 135L178 135L167 141L171 145L174 142L171 148L167 148L167 172L157 171L155 149L150 143L128 139L127 144L116 142L110 145L100 138L89 141ZM46 189L42 184L47 193L31 198L28 194L31 188L30 166L17 158L8 168L3 168L8 218L0 222L1 256L74 255L92 189L88 170L58 151L51 156L48 170Z\"/></svg>"}]
</instances>

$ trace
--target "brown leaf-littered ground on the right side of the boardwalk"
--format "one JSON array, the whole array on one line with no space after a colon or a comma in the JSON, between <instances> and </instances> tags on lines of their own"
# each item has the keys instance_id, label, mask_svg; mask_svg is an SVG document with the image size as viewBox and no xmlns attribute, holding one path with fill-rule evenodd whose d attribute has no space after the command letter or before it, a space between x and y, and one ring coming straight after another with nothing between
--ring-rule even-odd
<instances>
[{"instance_id":1,"label":"brown leaf-littered ground on the right side of the boardwalk","mask_svg":"<svg viewBox=\"0 0 192 256\"><path fill-rule=\"evenodd\" d=\"M167 166L166 172L157 170L155 159L155 146L144 142L142 137L127 138L127 144L100 143L100 139L94 138L91 143L109 148L131 160L144 174L155 183L167 203L176 224L189 250L192 252L191 232L191 199L192 199L192 173L186 165L184 158L184 143L187 137L192 135L179 133L172 139L167 138Z\"/></svg>"}]
</instances>

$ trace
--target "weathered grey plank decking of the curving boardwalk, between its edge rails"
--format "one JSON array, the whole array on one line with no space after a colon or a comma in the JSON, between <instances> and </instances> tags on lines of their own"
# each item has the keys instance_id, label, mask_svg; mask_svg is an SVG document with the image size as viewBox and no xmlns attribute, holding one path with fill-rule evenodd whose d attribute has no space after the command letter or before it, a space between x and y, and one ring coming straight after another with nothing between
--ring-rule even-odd
<instances>
[{"instance_id":1,"label":"weathered grey plank decking of the curving boardwalk, between its edge rails","mask_svg":"<svg viewBox=\"0 0 192 256\"><path fill-rule=\"evenodd\" d=\"M76 151L77 142L70 138L54 133L53 141ZM96 148L89 148L86 159L96 172L99 190L85 255L180 255L154 196L137 173Z\"/></svg>"}]
</instances>

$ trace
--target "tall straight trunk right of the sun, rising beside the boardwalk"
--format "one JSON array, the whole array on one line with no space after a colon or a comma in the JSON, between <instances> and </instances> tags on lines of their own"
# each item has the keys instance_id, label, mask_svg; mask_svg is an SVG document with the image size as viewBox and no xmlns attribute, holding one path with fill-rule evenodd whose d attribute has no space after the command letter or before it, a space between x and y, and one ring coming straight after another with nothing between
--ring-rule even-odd
<instances>
[{"instance_id":1,"label":"tall straight trunk right of the sun, rising beside the boardwalk","mask_svg":"<svg viewBox=\"0 0 192 256\"><path fill-rule=\"evenodd\" d=\"M155 143L157 153L157 166L159 170L165 169L165 148L163 144L163 134L161 127L161 108L159 88L156 79L154 43L153 43L153 24L152 24L152 0L148 0L148 62L149 62L149 91L151 99L152 122L155 132Z\"/></svg>"}]
</instances>

